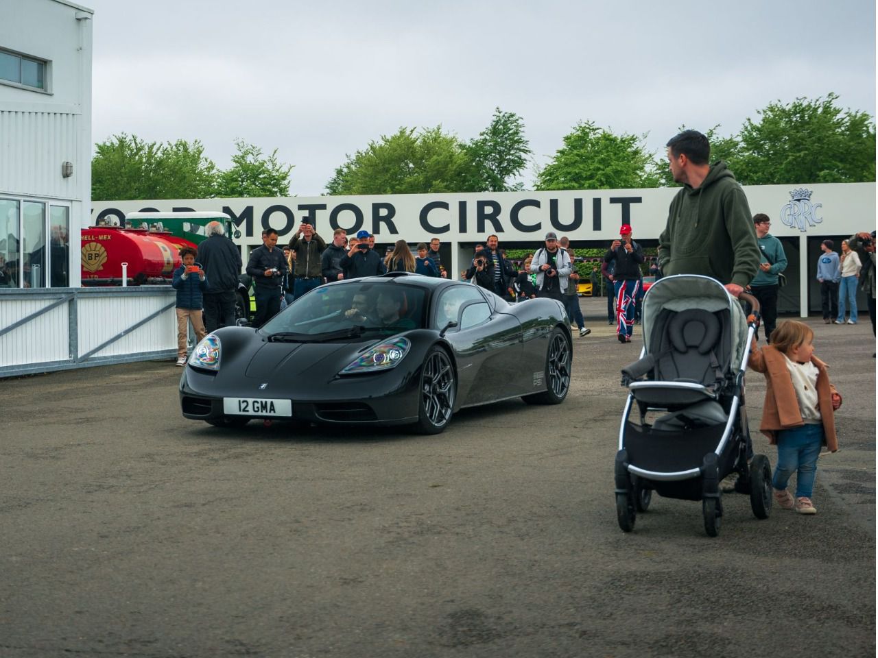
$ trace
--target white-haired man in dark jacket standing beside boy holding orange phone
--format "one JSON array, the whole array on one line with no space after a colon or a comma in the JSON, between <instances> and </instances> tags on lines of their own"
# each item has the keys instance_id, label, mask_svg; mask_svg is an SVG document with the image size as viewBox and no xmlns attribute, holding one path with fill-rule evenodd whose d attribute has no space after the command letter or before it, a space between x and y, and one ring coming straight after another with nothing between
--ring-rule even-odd
<instances>
[{"instance_id":1,"label":"white-haired man in dark jacket standing beside boy holding orange phone","mask_svg":"<svg viewBox=\"0 0 878 658\"><path fill-rule=\"evenodd\" d=\"M234 296L241 275L241 252L225 232L222 222L210 222L205 226L207 240L198 245L196 260L207 277L204 304L208 333L222 326L234 325Z\"/></svg>"}]
</instances>

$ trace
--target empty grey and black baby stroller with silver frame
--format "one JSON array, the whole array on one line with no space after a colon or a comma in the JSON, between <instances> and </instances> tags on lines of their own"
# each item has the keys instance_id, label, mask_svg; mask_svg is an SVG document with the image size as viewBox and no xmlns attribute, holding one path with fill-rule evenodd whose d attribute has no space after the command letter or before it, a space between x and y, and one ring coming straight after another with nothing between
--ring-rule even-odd
<instances>
[{"instance_id":1,"label":"empty grey and black baby stroller with silver frame","mask_svg":"<svg viewBox=\"0 0 878 658\"><path fill-rule=\"evenodd\" d=\"M763 454L749 459L744 406L759 302L741 298L752 306L748 318L721 283L700 275L666 276L644 297L644 350L622 371L629 395L615 456L616 514L626 533L655 491L702 501L704 529L716 537L719 483L735 472L735 490L750 495L756 518L771 511L771 464ZM631 418L635 408L639 422Z\"/></svg>"}]
</instances>

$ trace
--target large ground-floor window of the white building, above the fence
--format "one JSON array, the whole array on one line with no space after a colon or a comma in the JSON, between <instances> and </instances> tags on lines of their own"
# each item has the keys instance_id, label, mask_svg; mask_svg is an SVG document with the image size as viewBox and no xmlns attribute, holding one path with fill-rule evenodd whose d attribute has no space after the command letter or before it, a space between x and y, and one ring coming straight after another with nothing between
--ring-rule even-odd
<instances>
[{"instance_id":1,"label":"large ground-floor window of the white building, above the fence","mask_svg":"<svg viewBox=\"0 0 878 658\"><path fill-rule=\"evenodd\" d=\"M68 205L0 198L0 288L67 288L69 233Z\"/></svg>"}]
</instances>

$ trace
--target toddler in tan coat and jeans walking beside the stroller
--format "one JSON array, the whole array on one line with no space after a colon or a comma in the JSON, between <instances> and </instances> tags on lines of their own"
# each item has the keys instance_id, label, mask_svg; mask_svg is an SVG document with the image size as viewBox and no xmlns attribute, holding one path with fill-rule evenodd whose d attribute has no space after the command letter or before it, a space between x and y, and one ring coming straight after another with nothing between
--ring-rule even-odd
<instances>
[{"instance_id":1,"label":"toddler in tan coat and jeans walking beside the stroller","mask_svg":"<svg viewBox=\"0 0 878 658\"><path fill-rule=\"evenodd\" d=\"M814 332L795 320L777 325L772 344L762 349L753 340L749 365L766 375L766 400L759 431L777 446L774 499L785 510L816 514L811 503L817 456L826 446L838 450L833 412L841 396L829 382L826 364L814 356ZM795 499L787 490L797 472Z\"/></svg>"}]
</instances>

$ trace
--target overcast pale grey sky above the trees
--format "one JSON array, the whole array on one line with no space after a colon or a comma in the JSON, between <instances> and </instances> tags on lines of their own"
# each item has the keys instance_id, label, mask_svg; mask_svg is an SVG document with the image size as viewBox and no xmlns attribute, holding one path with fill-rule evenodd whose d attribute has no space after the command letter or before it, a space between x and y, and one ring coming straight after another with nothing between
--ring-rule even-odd
<instances>
[{"instance_id":1,"label":"overcast pale grey sky above the trees","mask_svg":"<svg viewBox=\"0 0 878 658\"><path fill-rule=\"evenodd\" d=\"M523 118L536 166L579 121L664 151L680 125L728 135L775 100L834 91L875 113L874 0L79 1L93 141L200 139L227 168L244 139L295 165L299 196L401 125L471 139L495 107Z\"/></svg>"}]
</instances>

